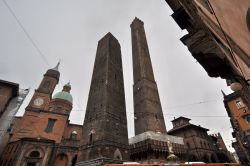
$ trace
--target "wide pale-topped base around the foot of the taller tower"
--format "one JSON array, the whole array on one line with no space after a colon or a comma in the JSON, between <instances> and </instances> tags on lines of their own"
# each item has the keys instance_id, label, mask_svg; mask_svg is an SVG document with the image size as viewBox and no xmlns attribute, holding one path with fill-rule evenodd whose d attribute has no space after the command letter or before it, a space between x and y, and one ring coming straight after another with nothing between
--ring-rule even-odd
<instances>
[{"instance_id":1,"label":"wide pale-topped base around the foot of the taller tower","mask_svg":"<svg viewBox=\"0 0 250 166\"><path fill-rule=\"evenodd\" d=\"M185 161L186 148L183 138L168 134L147 131L129 139L130 160L142 164L167 163L169 153L168 141L174 154Z\"/></svg>"}]
</instances>

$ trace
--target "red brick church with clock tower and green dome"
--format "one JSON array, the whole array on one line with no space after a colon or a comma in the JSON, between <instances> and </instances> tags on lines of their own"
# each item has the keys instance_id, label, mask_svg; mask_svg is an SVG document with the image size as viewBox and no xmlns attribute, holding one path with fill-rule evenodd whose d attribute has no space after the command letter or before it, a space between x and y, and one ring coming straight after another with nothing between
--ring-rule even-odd
<instances>
[{"instance_id":1,"label":"red brick church with clock tower and green dome","mask_svg":"<svg viewBox=\"0 0 250 166\"><path fill-rule=\"evenodd\" d=\"M52 97L60 76L58 65L44 74L23 117L16 119L1 166L66 166L76 162L82 126L69 123L73 102L70 84Z\"/></svg>"}]
</instances>

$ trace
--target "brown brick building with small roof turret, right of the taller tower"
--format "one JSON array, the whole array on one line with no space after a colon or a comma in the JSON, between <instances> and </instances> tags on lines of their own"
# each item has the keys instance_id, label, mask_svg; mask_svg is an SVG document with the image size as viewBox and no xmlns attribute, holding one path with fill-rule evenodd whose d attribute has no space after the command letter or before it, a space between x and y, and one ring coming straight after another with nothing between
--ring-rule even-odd
<instances>
[{"instance_id":1,"label":"brown brick building with small roof turret, right of the taller tower","mask_svg":"<svg viewBox=\"0 0 250 166\"><path fill-rule=\"evenodd\" d=\"M222 137L208 135L208 129L189 122L190 119L179 117L172 120L173 128L169 135L182 137L188 149L185 161L205 163L234 162L224 144ZM221 148L221 149L220 149Z\"/></svg>"}]
</instances>

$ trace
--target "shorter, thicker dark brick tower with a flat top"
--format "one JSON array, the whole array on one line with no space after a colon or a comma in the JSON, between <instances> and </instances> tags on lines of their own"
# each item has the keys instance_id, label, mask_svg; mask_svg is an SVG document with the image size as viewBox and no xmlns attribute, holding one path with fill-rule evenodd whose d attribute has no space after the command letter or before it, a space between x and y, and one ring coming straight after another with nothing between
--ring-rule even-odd
<instances>
[{"instance_id":1,"label":"shorter, thicker dark brick tower with a flat top","mask_svg":"<svg viewBox=\"0 0 250 166\"><path fill-rule=\"evenodd\" d=\"M111 33L98 42L82 144L78 160L84 162L79 165L90 165L86 161L96 159L128 159L121 50Z\"/></svg>"}]
</instances>

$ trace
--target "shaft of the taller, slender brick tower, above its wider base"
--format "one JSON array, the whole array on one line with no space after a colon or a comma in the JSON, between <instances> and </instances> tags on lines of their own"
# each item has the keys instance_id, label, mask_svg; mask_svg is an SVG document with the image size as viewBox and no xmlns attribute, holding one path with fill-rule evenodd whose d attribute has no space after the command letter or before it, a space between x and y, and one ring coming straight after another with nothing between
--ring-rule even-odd
<instances>
[{"instance_id":1,"label":"shaft of the taller, slender brick tower, above its wider base","mask_svg":"<svg viewBox=\"0 0 250 166\"><path fill-rule=\"evenodd\" d=\"M134 73L135 135L145 131L166 133L144 23L135 18L130 27Z\"/></svg>"}]
</instances>

